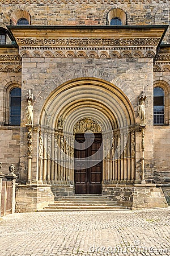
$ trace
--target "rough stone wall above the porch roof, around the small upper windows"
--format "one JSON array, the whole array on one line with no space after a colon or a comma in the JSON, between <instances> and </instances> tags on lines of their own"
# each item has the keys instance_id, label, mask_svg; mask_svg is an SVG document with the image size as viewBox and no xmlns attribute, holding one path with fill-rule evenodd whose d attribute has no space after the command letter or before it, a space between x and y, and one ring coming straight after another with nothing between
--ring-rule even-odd
<instances>
[{"instance_id":1,"label":"rough stone wall above the porch roof, around the small upper windows","mask_svg":"<svg viewBox=\"0 0 170 256\"><path fill-rule=\"evenodd\" d=\"M28 2L30 2L28 4ZM113 3L114 2L114 3ZM24 1L2 0L0 26L15 24L17 19L31 16L32 25L105 25L107 14L120 8L128 25L169 24L169 1ZM137 3L138 2L138 3ZM17 15L17 13L19 14ZM164 38L169 42L169 31Z\"/></svg>"}]
</instances>

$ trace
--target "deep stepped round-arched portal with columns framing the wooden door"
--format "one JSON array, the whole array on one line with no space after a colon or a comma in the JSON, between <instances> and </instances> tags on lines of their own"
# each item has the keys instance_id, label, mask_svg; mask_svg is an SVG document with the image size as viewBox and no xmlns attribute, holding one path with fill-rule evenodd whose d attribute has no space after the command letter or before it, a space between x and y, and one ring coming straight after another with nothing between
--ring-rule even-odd
<instances>
[{"instance_id":1,"label":"deep stepped round-arched portal with columns framing the wooden door","mask_svg":"<svg viewBox=\"0 0 170 256\"><path fill-rule=\"evenodd\" d=\"M74 171L82 169L75 164L80 158L86 168L102 161L102 184L134 182L135 117L117 86L94 78L68 81L49 95L39 123L39 180L44 184L73 185ZM75 156L80 133L101 134L100 159L97 152Z\"/></svg>"}]
</instances>

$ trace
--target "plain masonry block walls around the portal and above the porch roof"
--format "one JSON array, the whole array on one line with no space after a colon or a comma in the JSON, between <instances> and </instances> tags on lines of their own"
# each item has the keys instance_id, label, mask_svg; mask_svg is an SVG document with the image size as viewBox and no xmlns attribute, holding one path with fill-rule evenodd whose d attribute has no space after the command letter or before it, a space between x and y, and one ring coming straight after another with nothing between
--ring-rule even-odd
<instances>
[{"instance_id":1,"label":"plain masonry block walls around the portal and above the porch roof","mask_svg":"<svg viewBox=\"0 0 170 256\"><path fill-rule=\"evenodd\" d=\"M17 3L16 3L17 2ZM63 3L56 1L33 1L27 3L21 1L2 0L0 3L0 26L6 27L16 24L20 15L28 17L30 15L31 25L105 25L109 11L120 8L127 15L127 24L148 25L148 24L169 24L169 1L110 1L94 3ZM19 3L18 3L19 2ZM169 43L169 29L164 36L163 43ZM11 48L6 52L1 51L2 55L18 54L18 49ZM162 52L162 55L165 53ZM166 53L169 56L169 52ZM168 57L169 58L169 57ZM14 57L15 61L0 59L0 123L1 123L1 158L5 164L14 163L21 179L27 177L27 137L25 124L25 92L32 89L35 95L35 123L38 123L41 106L46 97L63 82L76 79L78 77L101 77L103 80L113 82L126 95L134 108L135 116L138 119L137 97L141 89L146 90L146 177L155 180L161 176L169 176L169 116L166 126L153 126L153 84L154 82L165 82L167 88L170 85L170 61L169 59L159 63L160 70L154 70L155 63L152 60L138 58L124 59L83 59L83 58L24 58L21 63ZM155 60L154 60L155 61ZM158 64L158 63L157 63ZM157 65L156 64L156 65ZM7 67L8 65L8 67ZM11 66L12 67L11 67ZM156 66L157 67L157 66ZM9 69L8 69L9 68ZM10 69L12 68L12 70ZM153 76L154 74L154 76ZM6 88L12 84L22 84L22 125L20 127L8 127L6 117ZM41 86L41 87L40 87ZM170 91L170 90L169 90ZM168 111L169 111L169 92L168 92ZM20 132L21 129L21 132ZM21 138L20 138L21 136ZM137 145L137 158L139 147ZM154 150L153 150L154 149ZM4 166L4 165L3 165ZM138 163L137 168L140 168ZM4 170L3 170L4 172ZM162 174L159 174L162 172ZM165 174L166 172L166 174ZM19 176L19 175L18 175Z\"/></svg>"}]
</instances>

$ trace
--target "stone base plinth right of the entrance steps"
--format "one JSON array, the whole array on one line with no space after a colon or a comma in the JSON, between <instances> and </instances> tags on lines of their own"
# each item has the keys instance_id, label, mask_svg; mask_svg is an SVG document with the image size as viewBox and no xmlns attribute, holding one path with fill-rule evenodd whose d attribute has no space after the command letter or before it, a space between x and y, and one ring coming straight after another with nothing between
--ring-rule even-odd
<instances>
[{"instance_id":1,"label":"stone base plinth right of the entrance steps","mask_svg":"<svg viewBox=\"0 0 170 256\"><path fill-rule=\"evenodd\" d=\"M102 195L113 197L128 209L168 207L162 188L156 184L103 185Z\"/></svg>"}]
</instances>

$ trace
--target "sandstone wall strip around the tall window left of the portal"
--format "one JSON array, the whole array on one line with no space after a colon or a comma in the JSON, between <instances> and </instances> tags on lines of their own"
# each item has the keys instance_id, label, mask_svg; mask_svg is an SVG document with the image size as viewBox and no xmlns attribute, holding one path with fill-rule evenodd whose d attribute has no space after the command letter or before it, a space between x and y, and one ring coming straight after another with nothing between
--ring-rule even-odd
<instances>
[{"instance_id":1,"label":"sandstone wall strip around the tall window left of the portal","mask_svg":"<svg viewBox=\"0 0 170 256\"><path fill-rule=\"evenodd\" d=\"M6 64L8 65L8 63ZM13 63L11 64L14 65ZM8 106L10 100L10 89L14 88L14 86L20 85L20 77L21 73L19 72L0 73L0 161L2 162L3 174L8 174L8 167L11 163L13 163L16 166L15 173L18 177L20 157L20 126L8 126Z\"/></svg>"}]
</instances>

